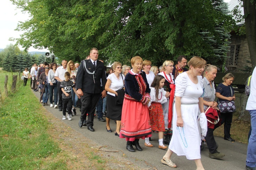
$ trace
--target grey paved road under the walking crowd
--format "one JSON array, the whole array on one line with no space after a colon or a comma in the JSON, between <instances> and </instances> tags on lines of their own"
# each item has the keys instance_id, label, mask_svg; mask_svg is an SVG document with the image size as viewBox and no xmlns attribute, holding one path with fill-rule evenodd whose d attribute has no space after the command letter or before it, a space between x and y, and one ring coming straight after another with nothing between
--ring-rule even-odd
<instances>
[{"instance_id":1,"label":"grey paved road under the walking crowd","mask_svg":"<svg viewBox=\"0 0 256 170\"><path fill-rule=\"evenodd\" d=\"M34 94L39 98L39 92L34 92ZM48 101L49 104L49 101ZM153 133L151 137L151 143L154 145L153 148L144 146L144 140L140 140L140 145L142 146L143 151L139 152L129 152L126 150L126 141L125 139L120 139L114 135L116 124L114 121L110 122L112 133L106 132L106 123L97 121L97 118L94 119L94 129L95 132L90 132L87 129L87 126L80 128L78 122L80 120L81 112L79 108L76 110L77 114L72 117L72 121L62 120L62 112L53 107L44 106L49 112L51 112L56 118L66 123L69 127L74 129L74 133L79 132L83 134L86 138L94 141L99 146L108 146L108 150L120 151L113 153L113 156L121 157L123 153L126 155L126 159L131 163L139 166L141 169L156 168L158 170L173 169L166 165L161 164L160 160L163 155L166 153L166 150L158 149L158 134ZM246 132L247 133L247 132ZM245 169L245 160L246 160L246 151L247 144L239 142L230 142L224 140L221 137L215 137L216 142L218 143L218 151L225 153L223 159L211 159L208 156L208 148L205 144L205 148L201 151L201 160L204 168L206 170L242 170ZM135 147L134 147L135 148ZM185 156L177 156L173 154L172 161L177 165L175 170L190 170L196 169L195 162L193 160L187 160ZM121 163L120 163L121 164Z\"/></svg>"}]
</instances>

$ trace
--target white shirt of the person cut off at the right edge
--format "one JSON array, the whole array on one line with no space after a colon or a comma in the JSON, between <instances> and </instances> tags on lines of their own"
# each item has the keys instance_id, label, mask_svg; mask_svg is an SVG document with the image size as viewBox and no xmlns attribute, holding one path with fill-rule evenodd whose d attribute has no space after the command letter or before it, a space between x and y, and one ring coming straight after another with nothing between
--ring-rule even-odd
<instances>
[{"instance_id":1,"label":"white shirt of the person cut off at the right edge","mask_svg":"<svg viewBox=\"0 0 256 170\"><path fill-rule=\"evenodd\" d=\"M247 100L246 110L256 110L256 67L251 78L250 96Z\"/></svg>"}]
</instances>

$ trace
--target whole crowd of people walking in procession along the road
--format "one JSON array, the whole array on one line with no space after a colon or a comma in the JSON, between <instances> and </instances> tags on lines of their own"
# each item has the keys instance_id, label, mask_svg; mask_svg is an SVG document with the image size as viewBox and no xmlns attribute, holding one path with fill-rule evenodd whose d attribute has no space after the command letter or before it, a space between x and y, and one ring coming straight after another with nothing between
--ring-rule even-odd
<instances>
[{"instance_id":1,"label":"whole crowd of people walking in procession along the road","mask_svg":"<svg viewBox=\"0 0 256 170\"><path fill-rule=\"evenodd\" d=\"M137 151L143 150L140 139L145 140L146 147L153 147L150 143L152 132L157 132L158 148L167 149L161 163L173 168L177 167L171 161L174 152L195 160L198 170L204 169L201 141L207 142L210 158L225 156L217 151L213 132L224 124L224 139L235 141L230 135L235 111L233 101L236 99L231 73L222 78L223 83L219 83L215 90L217 67L200 57L187 62L185 56L179 56L175 65L172 60L166 60L158 67L135 56L131 59L131 66L114 62L106 71L98 55L98 49L92 48L90 55L80 64L72 60L62 60L62 66L58 68L56 63L49 65L44 62L39 68L35 64L30 72L31 88L37 91L38 85L41 86L42 105L48 105L50 98L51 107L62 111L62 119L66 120L68 112L68 120L72 120L79 101L81 116L78 124L87 126L92 132L95 131L93 122L97 109L97 120L106 121L107 132L113 132L110 120L116 122L114 134L126 139L126 149L130 152L135 152L133 145ZM28 77L27 70L25 68L23 72L24 77ZM26 82L24 78L24 86ZM254 111L250 113L255 114ZM253 139L250 138L249 143L255 148L252 144L255 141L254 125L252 129ZM250 148L250 151L255 157L255 150ZM254 168L254 163L251 156L248 167Z\"/></svg>"}]
</instances>

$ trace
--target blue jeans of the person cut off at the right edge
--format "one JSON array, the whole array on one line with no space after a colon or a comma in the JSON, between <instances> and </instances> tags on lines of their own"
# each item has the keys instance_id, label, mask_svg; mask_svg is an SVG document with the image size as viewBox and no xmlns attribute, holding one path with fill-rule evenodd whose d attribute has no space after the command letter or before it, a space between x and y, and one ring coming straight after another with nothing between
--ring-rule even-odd
<instances>
[{"instance_id":1,"label":"blue jeans of the person cut off at the right edge","mask_svg":"<svg viewBox=\"0 0 256 170\"><path fill-rule=\"evenodd\" d=\"M249 110L251 114L252 132L247 147L246 165L256 167L256 110Z\"/></svg>"}]
</instances>

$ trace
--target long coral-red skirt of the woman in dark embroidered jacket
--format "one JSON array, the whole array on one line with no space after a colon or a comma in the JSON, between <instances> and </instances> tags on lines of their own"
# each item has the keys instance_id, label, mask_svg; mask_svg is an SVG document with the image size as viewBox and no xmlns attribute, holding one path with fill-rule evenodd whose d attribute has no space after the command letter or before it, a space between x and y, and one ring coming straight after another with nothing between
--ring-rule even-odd
<instances>
[{"instance_id":1,"label":"long coral-red skirt of the woman in dark embroidered jacket","mask_svg":"<svg viewBox=\"0 0 256 170\"><path fill-rule=\"evenodd\" d=\"M120 138L126 141L151 137L150 117L147 105L124 98Z\"/></svg>"}]
</instances>

